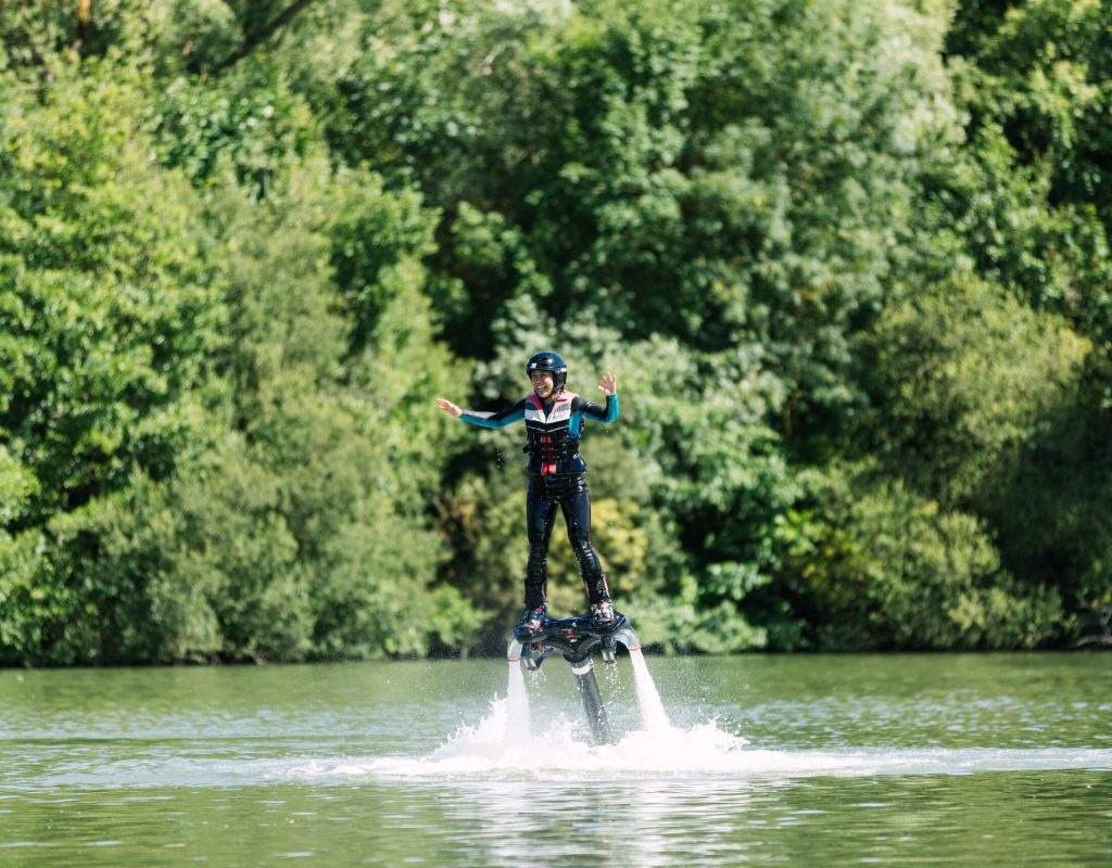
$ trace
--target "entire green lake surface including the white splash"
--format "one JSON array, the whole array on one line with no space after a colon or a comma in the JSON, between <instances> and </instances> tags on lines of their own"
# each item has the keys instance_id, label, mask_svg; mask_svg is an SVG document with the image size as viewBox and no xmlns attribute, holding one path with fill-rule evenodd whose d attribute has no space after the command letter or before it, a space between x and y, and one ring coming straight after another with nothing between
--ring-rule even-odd
<instances>
[{"instance_id":1,"label":"entire green lake surface including the white splash","mask_svg":"<svg viewBox=\"0 0 1112 868\"><path fill-rule=\"evenodd\" d=\"M1112 655L0 671L0 865L1112 866Z\"/></svg>"}]
</instances>

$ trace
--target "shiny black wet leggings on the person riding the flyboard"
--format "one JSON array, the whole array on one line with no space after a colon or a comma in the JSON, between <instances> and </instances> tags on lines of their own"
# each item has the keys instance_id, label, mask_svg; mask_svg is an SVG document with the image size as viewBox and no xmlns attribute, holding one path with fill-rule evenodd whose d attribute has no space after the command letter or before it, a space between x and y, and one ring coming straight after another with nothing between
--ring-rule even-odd
<instances>
[{"instance_id":1,"label":"shiny black wet leggings on the person riding the flyboard","mask_svg":"<svg viewBox=\"0 0 1112 868\"><path fill-rule=\"evenodd\" d=\"M556 508L564 512L567 538L575 558L587 600L592 603L609 599L606 577L598 556L590 547L590 495L586 473L560 476L529 475L526 498L526 520L529 530L529 565L525 576L525 607L544 605L548 592L548 541L553 536Z\"/></svg>"}]
</instances>

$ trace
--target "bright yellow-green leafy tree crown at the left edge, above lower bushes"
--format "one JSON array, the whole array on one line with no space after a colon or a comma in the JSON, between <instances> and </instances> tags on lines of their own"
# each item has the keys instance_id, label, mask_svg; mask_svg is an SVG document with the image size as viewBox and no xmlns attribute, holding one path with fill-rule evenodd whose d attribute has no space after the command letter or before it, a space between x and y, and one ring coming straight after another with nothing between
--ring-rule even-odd
<instances>
[{"instance_id":1,"label":"bright yellow-green leafy tree crown at the left edge, above lower bushes","mask_svg":"<svg viewBox=\"0 0 1112 868\"><path fill-rule=\"evenodd\" d=\"M225 321L197 202L151 164L129 111L137 78L57 72L63 86L9 106L0 131L0 431L37 480L26 512L40 521L132 465L172 472L203 436Z\"/></svg>"}]
</instances>

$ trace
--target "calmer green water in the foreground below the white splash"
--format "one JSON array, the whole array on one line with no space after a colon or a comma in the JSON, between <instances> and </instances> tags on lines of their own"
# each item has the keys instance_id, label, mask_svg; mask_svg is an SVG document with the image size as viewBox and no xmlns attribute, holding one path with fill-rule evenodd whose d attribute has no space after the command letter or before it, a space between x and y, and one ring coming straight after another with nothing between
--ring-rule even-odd
<instances>
[{"instance_id":1,"label":"calmer green water in the foreground below the white splash","mask_svg":"<svg viewBox=\"0 0 1112 868\"><path fill-rule=\"evenodd\" d=\"M4 865L1106 866L1109 776L434 781L0 801Z\"/></svg>"}]
</instances>

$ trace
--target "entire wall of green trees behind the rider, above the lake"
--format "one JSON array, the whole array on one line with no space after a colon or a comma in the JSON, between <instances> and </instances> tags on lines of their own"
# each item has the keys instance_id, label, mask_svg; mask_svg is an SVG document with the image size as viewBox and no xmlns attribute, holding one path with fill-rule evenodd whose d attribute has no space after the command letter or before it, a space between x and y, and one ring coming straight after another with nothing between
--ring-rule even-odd
<instances>
[{"instance_id":1,"label":"entire wall of green trees behind the rider, above the lake","mask_svg":"<svg viewBox=\"0 0 1112 868\"><path fill-rule=\"evenodd\" d=\"M1110 641L1110 106L1101 0L3 3L0 664L500 649L433 399L548 347L646 643Z\"/></svg>"}]
</instances>

